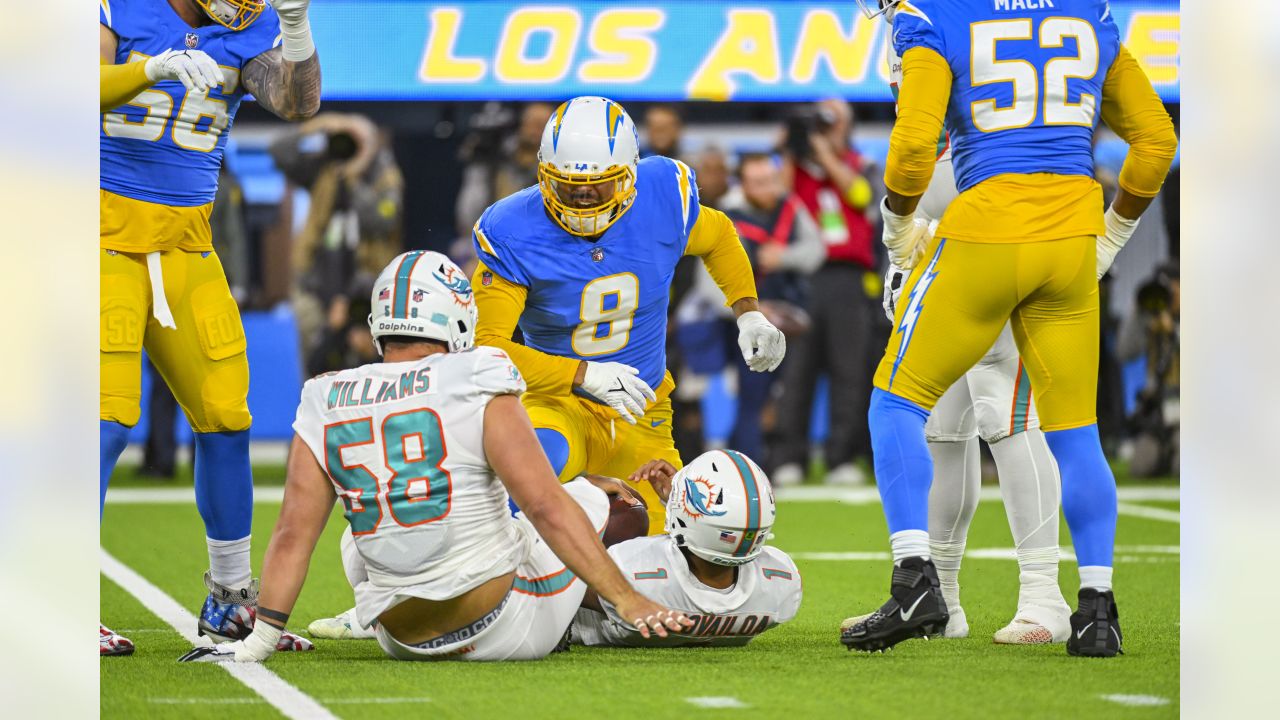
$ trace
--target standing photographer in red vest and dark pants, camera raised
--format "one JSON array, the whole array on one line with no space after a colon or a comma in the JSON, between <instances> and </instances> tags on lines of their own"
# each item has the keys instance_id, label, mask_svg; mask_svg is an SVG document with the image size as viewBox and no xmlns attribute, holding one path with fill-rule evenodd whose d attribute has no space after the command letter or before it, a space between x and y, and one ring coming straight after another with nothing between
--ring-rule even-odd
<instances>
[{"instance_id":1,"label":"standing photographer in red vest and dark pants, camera raised","mask_svg":"<svg viewBox=\"0 0 1280 720\"><path fill-rule=\"evenodd\" d=\"M823 373L831 387L828 482L864 482L854 460L870 459L867 406L883 345L874 220L868 215L877 199L868 181L872 165L852 149L852 109L838 99L805 106L787 123L782 151L791 187L817 220L827 255L809 282L812 329L792 343L783 373L774 484L804 478L814 384Z\"/></svg>"}]
</instances>

